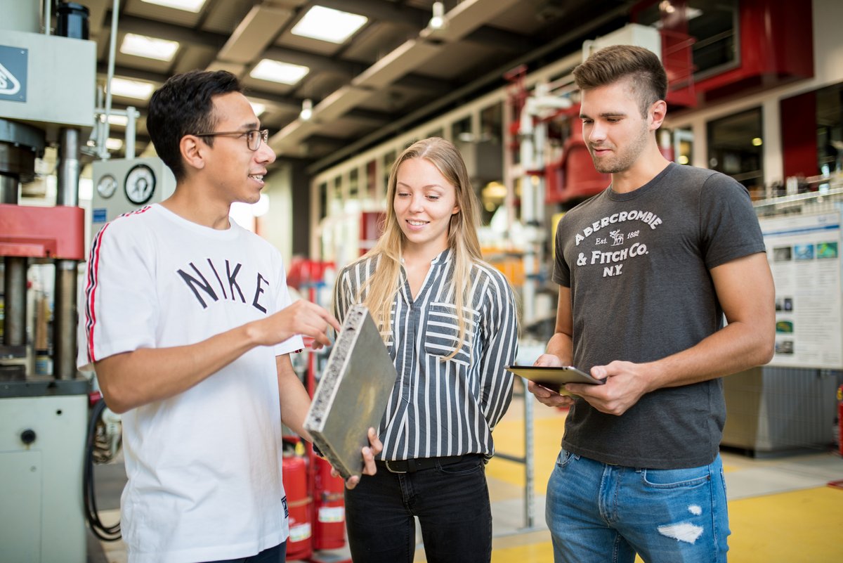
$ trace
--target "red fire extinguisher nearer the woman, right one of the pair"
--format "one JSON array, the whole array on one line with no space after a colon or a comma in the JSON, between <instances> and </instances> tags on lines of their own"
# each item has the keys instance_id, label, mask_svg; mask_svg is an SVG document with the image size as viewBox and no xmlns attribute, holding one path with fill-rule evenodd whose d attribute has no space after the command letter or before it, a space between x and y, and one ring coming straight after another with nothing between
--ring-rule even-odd
<instances>
[{"instance_id":1,"label":"red fire extinguisher nearer the woman, right one of the pair","mask_svg":"<svg viewBox=\"0 0 843 563\"><path fill-rule=\"evenodd\" d=\"M330 475L325 459L314 464L314 550L336 550L346 544L345 483Z\"/></svg>"}]
</instances>

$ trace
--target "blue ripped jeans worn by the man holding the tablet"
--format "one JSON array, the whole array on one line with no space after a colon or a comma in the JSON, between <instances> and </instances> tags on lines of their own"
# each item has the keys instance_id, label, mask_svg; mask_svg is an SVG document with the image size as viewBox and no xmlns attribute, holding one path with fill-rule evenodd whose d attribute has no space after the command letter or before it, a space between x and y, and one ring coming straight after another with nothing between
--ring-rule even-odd
<instances>
[{"instance_id":1,"label":"blue ripped jeans worn by the man holding the tablet","mask_svg":"<svg viewBox=\"0 0 843 563\"><path fill-rule=\"evenodd\" d=\"M726 563L726 484L718 455L691 469L603 464L562 450L545 518L556 563Z\"/></svg>"}]
</instances>

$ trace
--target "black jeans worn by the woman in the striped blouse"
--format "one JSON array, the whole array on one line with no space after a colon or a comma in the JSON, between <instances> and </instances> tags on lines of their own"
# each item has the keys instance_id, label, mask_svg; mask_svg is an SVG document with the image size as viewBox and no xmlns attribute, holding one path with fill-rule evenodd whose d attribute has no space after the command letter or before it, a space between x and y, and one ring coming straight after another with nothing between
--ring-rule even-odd
<instances>
[{"instance_id":1,"label":"black jeans worn by the woman in the striped blouse","mask_svg":"<svg viewBox=\"0 0 843 563\"><path fill-rule=\"evenodd\" d=\"M363 475L346 490L354 563L412 563L416 516L428 563L489 563L491 505L481 455L415 473Z\"/></svg>"}]
</instances>

